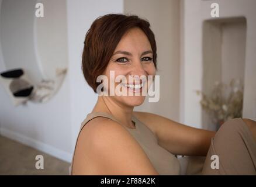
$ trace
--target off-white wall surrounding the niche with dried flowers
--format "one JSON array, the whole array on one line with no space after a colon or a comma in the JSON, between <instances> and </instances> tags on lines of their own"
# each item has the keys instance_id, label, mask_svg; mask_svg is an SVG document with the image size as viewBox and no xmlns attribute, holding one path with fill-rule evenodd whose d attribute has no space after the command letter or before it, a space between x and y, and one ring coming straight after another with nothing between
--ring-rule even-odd
<instances>
[{"instance_id":1,"label":"off-white wall surrounding the niche with dried flowers","mask_svg":"<svg viewBox=\"0 0 256 187\"><path fill-rule=\"evenodd\" d=\"M184 20L182 22L183 51L181 72L184 79L181 82L182 106L181 122L195 127L207 127L202 124L200 98L195 90L202 90L202 25L203 20L212 19L210 5L216 2L220 5L220 18L245 17L247 19L247 36L244 72L244 106L243 117L256 119L256 1L226 0L226 1L189 1L182 4Z\"/></svg>"}]
</instances>

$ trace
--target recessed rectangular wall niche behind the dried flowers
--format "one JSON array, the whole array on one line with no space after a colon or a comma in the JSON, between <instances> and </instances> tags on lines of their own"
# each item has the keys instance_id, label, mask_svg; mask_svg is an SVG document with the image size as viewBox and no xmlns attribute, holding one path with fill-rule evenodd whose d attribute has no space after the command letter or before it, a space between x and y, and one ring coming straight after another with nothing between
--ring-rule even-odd
<instances>
[{"instance_id":1,"label":"recessed rectangular wall niche behind the dried flowers","mask_svg":"<svg viewBox=\"0 0 256 187\"><path fill-rule=\"evenodd\" d=\"M244 17L203 22L202 91L207 95L217 82L229 85L232 79L236 79L244 84L246 33L247 20ZM217 128L204 110L202 124L206 129Z\"/></svg>"}]
</instances>

